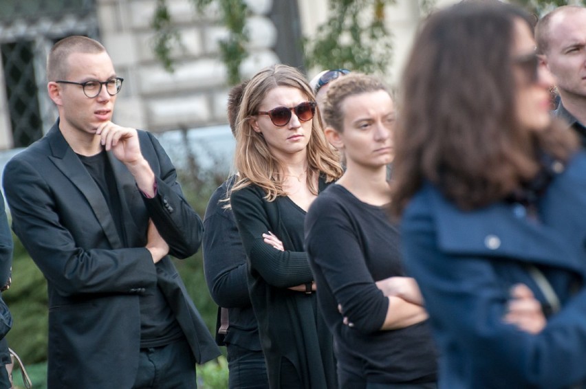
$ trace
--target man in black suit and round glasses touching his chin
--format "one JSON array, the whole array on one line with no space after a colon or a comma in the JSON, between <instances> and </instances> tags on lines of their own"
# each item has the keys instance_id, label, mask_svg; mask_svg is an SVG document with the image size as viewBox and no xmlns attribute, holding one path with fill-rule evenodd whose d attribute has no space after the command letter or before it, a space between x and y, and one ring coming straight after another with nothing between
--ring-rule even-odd
<instances>
[{"instance_id":1,"label":"man in black suit and round glasses touching his chin","mask_svg":"<svg viewBox=\"0 0 586 389\"><path fill-rule=\"evenodd\" d=\"M196 388L219 349L168 254L202 221L155 137L111 121L105 48L69 36L47 58L59 118L6 166L12 228L47 279L48 388Z\"/></svg>"}]
</instances>

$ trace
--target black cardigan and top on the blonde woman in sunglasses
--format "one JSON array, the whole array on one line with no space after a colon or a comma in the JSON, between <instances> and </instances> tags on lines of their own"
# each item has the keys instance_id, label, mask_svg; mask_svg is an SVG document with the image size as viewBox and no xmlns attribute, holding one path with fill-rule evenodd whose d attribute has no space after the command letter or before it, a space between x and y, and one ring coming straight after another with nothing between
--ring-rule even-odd
<instances>
[{"instance_id":1,"label":"black cardigan and top on the blonde woman in sunglasses","mask_svg":"<svg viewBox=\"0 0 586 389\"><path fill-rule=\"evenodd\" d=\"M325 186L320 179L319 189ZM287 289L313 280L302 244L305 212L287 197L264 197L251 185L232 192L230 203L249 260L248 289L270 387L300 380L299 388L336 388L332 335L317 311L316 295ZM268 231L283 242L284 252L263 242ZM282 367L295 376L281 375Z\"/></svg>"}]
</instances>

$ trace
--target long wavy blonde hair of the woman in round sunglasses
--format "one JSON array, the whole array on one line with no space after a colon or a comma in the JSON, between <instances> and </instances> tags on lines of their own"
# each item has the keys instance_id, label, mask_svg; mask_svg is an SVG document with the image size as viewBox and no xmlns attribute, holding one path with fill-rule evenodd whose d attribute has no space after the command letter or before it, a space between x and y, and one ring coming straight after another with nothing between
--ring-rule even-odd
<instances>
[{"instance_id":1,"label":"long wavy blonde hair of the woman in round sunglasses","mask_svg":"<svg viewBox=\"0 0 586 389\"><path fill-rule=\"evenodd\" d=\"M299 89L307 96L307 100L315 101L314 93L303 74L287 65L266 67L246 85L236 123L235 167L239 180L232 187L232 191L254 184L265 191L267 201L287 195L283 190L285 166L270 153L264 137L252 129L250 120L259 111L267 93L276 87ZM325 181L330 182L343 173L336 151L329 146L323 135L318 109L312 120L312 135L307 144L307 168L307 184L314 194L318 193L314 184L316 177L323 175Z\"/></svg>"}]
</instances>

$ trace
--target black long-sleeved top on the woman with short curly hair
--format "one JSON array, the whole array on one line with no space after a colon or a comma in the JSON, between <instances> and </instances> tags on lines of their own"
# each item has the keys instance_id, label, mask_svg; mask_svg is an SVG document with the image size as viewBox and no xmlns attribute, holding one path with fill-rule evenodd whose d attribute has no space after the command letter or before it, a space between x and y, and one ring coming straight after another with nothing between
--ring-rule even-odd
<instances>
[{"instance_id":1,"label":"black long-sleeved top on the woman with short curly hair","mask_svg":"<svg viewBox=\"0 0 586 389\"><path fill-rule=\"evenodd\" d=\"M389 300L375 282L405 276L398 226L387 211L332 185L307 214L305 245L334 333L340 387L435 381L437 354L427 322L380 331ZM354 326L343 324L343 316Z\"/></svg>"}]
</instances>

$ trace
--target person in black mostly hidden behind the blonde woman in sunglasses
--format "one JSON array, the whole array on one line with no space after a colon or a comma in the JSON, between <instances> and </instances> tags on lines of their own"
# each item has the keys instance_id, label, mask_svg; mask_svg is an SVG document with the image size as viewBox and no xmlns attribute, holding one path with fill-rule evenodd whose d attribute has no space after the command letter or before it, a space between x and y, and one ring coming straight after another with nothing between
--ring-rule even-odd
<instances>
[{"instance_id":1,"label":"person in black mostly hidden behind the blonde woman in sunglasses","mask_svg":"<svg viewBox=\"0 0 586 389\"><path fill-rule=\"evenodd\" d=\"M228 121L236 136L236 118L247 81L228 93ZM228 388L268 388L259 324L248 295L248 264L226 195L238 179L230 176L210 197L204 216L204 271L210 295L218 304L216 340L228 351Z\"/></svg>"}]
</instances>

